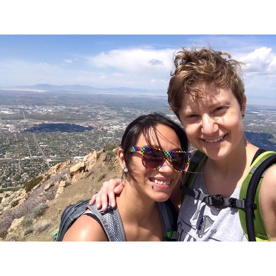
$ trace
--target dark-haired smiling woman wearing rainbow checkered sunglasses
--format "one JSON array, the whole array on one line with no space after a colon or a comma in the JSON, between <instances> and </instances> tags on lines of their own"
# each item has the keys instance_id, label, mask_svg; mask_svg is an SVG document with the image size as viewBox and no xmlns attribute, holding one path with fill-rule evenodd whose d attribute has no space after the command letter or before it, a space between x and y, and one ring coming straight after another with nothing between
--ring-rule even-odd
<instances>
[{"instance_id":1,"label":"dark-haired smiling woman wearing rainbow checkered sunglasses","mask_svg":"<svg viewBox=\"0 0 276 276\"><path fill-rule=\"evenodd\" d=\"M135 119L118 150L126 181L116 198L117 207L104 213L94 204L70 227L63 241L171 240L176 220L168 198L189 163L187 150L185 131L163 114Z\"/></svg>"}]
</instances>

